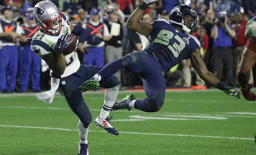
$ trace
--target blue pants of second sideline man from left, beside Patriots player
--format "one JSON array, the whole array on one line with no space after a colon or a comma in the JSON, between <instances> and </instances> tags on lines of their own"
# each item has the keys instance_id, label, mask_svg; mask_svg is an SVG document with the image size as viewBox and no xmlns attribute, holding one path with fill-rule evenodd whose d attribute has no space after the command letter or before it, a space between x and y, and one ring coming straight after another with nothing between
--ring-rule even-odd
<instances>
[{"instance_id":1,"label":"blue pants of second sideline man from left, beside Patriots player","mask_svg":"<svg viewBox=\"0 0 256 155\"><path fill-rule=\"evenodd\" d=\"M24 45L19 48L19 91L27 91L29 79L33 91L40 91L41 58Z\"/></svg>"}]
</instances>

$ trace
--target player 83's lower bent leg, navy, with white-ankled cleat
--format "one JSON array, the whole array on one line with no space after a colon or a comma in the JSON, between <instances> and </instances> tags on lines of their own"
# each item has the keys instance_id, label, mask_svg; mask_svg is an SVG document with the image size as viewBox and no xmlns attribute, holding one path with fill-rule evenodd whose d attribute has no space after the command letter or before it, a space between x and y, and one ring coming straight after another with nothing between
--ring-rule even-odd
<instances>
[{"instance_id":1,"label":"player 83's lower bent leg, navy, with white-ankled cleat","mask_svg":"<svg viewBox=\"0 0 256 155\"><path fill-rule=\"evenodd\" d=\"M161 109L165 98L165 78L160 62L152 59L151 64L150 68L140 74L148 98L135 100L134 95L128 95L123 100L115 102L112 110L136 108L144 112L157 112Z\"/></svg>"}]
</instances>

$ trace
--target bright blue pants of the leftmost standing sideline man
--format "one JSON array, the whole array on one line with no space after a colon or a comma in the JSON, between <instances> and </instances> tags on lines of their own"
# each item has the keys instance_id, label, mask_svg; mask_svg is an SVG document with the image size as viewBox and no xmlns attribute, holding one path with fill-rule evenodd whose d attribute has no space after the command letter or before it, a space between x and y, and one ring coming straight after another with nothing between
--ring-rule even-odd
<instances>
[{"instance_id":1,"label":"bright blue pants of the leftmost standing sideline man","mask_svg":"<svg viewBox=\"0 0 256 155\"><path fill-rule=\"evenodd\" d=\"M14 91L18 72L18 47L3 46L0 49L0 91Z\"/></svg>"}]
</instances>

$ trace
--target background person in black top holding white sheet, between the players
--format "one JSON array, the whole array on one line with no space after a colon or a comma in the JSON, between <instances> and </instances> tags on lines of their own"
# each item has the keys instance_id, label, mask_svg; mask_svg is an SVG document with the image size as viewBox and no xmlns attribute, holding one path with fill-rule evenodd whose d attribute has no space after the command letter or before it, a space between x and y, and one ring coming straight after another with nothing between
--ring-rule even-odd
<instances>
[{"instance_id":1,"label":"background person in black top holding white sheet, between the players","mask_svg":"<svg viewBox=\"0 0 256 155\"><path fill-rule=\"evenodd\" d=\"M108 23L108 28L112 38L107 42L106 47L106 60L111 62L112 60L120 59L122 57L122 39L124 37L122 24L118 21L118 15L112 13L110 16L110 21ZM121 78L121 73L118 71L116 76Z\"/></svg>"}]
</instances>

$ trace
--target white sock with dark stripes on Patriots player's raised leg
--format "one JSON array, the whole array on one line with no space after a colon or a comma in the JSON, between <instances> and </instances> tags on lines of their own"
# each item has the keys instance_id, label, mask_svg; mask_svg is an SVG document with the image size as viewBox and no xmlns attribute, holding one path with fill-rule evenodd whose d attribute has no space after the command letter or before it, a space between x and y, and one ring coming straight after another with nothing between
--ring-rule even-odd
<instances>
[{"instance_id":1,"label":"white sock with dark stripes on Patriots player's raised leg","mask_svg":"<svg viewBox=\"0 0 256 155\"><path fill-rule=\"evenodd\" d=\"M118 95L120 85L117 85L114 88L106 89L105 91L105 100L101 109L101 113L99 114L99 119L105 119L109 116L109 112L116 102L116 97Z\"/></svg>"}]
</instances>

